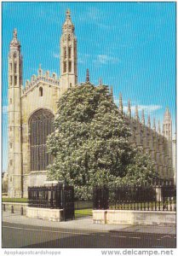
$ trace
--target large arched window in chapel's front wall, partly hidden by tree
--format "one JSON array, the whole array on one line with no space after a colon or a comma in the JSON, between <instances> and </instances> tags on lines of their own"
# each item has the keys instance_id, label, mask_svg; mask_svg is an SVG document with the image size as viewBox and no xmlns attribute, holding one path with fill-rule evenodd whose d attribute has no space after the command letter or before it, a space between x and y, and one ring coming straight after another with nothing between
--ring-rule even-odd
<instances>
[{"instance_id":1,"label":"large arched window in chapel's front wall, partly hidden by tree","mask_svg":"<svg viewBox=\"0 0 178 256\"><path fill-rule=\"evenodd\" d=\"M47 109L39 109L29 120L31 171L45 171L52 162L47 153L47 137L53 132L54 115Z\"/></svg>"}]
</instances>

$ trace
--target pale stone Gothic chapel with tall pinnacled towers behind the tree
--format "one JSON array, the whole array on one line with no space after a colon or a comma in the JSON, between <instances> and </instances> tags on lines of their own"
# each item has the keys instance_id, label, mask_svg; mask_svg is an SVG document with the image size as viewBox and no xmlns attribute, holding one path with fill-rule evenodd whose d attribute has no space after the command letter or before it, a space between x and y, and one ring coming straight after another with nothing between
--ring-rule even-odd
<instances>
[{"instance_id":1,"label":"pale stone Gothic chapel with tall pinnacled towers behind the tree","mask_svg":"<svg viewBox=\"0 0 178 256\"><path fill-rule=\"evenodd\" d=\"M26 86L23 86L23 60L17 31L14 30L9 48L8 172L10 197L26 197L28 186L42 185L46 180L45 166L49 163L47 160L49 155L46 152L45 143L51 131L50 121L52 116L55 117L60 96L68 88L78 84L77 55L77 38L74 34L70 10L67 10L60 38L60 78L55 73L50 76L49 71L43 72L40 65L37 75L33 74L31 81L27 80ZM87 82L89 82L89 72ZM123 113L121 95L119 111ZM43 113L42 119L39 113ZM138 109L135 113L135 117L132 117L129 102L128 113L123 114L132 130L130 144L135 147L142 146L144 152L152 155L155 166L162 177L174 177L169 110L166 110L164 116L164 134L161 134L159 126L156 131L155 124L151 128L150 118L148 124L145 125L144 113L142 113L141 121Z\"/></svg>"}]
</instances>

